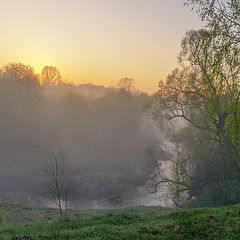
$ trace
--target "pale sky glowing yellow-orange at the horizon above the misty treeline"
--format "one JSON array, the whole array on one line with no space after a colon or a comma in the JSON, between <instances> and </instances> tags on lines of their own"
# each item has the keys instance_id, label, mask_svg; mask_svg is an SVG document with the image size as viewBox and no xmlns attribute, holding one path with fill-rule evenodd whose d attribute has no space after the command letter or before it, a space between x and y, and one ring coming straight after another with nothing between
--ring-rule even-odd
<instances>
[{"instance_id":1,"label":"pale sky glowing yellow-orange at the horizon above the misty treeline","mask_svg":"<svg viewBox=\"0 0 240 240\"><path fill-rule=\"evenodd\" d=\"M203 26L184 0L0 0L0 66L56 66L76 84L123 77L152 93L177 66L186 31Z\"/></svg>"}]
</instances>

